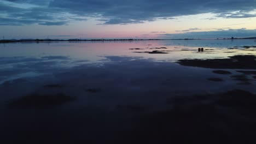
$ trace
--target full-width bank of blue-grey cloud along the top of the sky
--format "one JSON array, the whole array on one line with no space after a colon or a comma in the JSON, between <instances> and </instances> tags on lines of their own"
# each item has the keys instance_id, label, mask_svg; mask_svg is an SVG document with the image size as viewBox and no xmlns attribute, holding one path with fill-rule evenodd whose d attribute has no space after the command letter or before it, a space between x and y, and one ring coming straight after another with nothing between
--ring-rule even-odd
<instances>
[{"instance_id":1,"label":"full-width bank of blue-grey cloud along the top of the sky","mask_svg":"<svg viewBox=\"0 0 256 144\"><path fill-rule=\"evenodd\" d=\"M63 21L63 25L70 21L86 20L86 17L95 17L102 21L102 25L126 25L158 19L172 20L176 19L173 18L176 16L203 13L213 13L217 14L217 17L224 18L256 17L255 14L248 13L255 9L255 0L45 0L40 2L36 0L9 0L9 2L29 3L40 5L40 7L21 9L11 7L0 1L0 11L4 11L4 14L7 15L5 18L10 18L10 16L28 17L31 20L38 20L37 23ZM72 19L66 14L72 15ZM209 20L212 20L211 17Z\"/></svg>"}]
</instances>

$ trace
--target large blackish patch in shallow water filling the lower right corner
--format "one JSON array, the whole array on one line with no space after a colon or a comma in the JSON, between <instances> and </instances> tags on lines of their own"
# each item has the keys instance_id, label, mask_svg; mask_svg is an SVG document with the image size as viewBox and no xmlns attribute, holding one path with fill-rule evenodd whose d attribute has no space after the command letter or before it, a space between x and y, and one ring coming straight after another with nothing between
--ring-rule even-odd
<instances>
[{"instance_id":1,"label":"large blackish patch in shallow water filling the lower right corner","mask_svg":"<svg viewBox=\"0 0 256 144\"><path fill-rule=\"evenodd\" d=\"M175 97L168 102L174 105L173 109L136 117L136 126L129 136L131 141L204 143L211 139L210 143L223 143L223 140L244 140L243 136L237 135L251 135L248 139L254 141L255 94L234 90L220 94Z\"/></svg>"}]
</instances>

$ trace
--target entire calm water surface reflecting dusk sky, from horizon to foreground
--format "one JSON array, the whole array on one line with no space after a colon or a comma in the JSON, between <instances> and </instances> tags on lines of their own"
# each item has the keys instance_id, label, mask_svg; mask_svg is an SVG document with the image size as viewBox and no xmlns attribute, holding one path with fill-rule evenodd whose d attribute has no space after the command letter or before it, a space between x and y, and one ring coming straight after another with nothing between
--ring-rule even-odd
<instances>
[{"instance_id":1,"label":"entire calm water surface reflecting dusk sky, from horizon to foreground","mask_svg":"<svg viewBox=\"0 0 256 144\"><path fill-rule=\"evenodd\" d=\"M248 92L256 93L255 70L241 73L176 62L253 57L255 46L255 40L0 44L2 143L124 143L139 135L151 141L176 134L188 141L194 134L201 140L205 133L233 140L236 134L251 135L255 97ZM204 51L198 52L199 47ZM239 97L224 97L229 91L240 92ZM224 100L217 103L219 93ZM176 103L173 98L181 99Z\"/></svg>"}]
</instances>

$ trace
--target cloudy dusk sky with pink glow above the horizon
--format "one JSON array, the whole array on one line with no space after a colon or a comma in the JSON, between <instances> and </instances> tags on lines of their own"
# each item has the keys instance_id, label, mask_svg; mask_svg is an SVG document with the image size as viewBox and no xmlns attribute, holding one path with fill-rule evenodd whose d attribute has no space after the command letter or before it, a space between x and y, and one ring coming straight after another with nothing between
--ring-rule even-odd
<instances>
[{"instance_id":1,"label":"cloudy dusk sky with pink glow above the horizon","mask_svg":"<svg viewBox=\"0 0 256 144\"><path fill-rule=\"evenodd\" d=\"M255 23L256 0L0 0L5 39L245 38Z\"/></svg>"}]
</instances>

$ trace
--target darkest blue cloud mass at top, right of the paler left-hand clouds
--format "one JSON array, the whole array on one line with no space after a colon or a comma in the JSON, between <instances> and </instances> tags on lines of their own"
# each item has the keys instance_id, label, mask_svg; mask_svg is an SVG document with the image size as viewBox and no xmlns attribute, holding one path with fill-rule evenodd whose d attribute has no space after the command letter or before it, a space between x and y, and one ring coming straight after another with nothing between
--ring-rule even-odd
<instances>
[{"instance_id":1,"label":"darkest blue cloud mass at top, right of the paler left-hand clouds","mask_svg":"<svg viewBox=\"0 0 256 144\"><path fill-rule=\"evenodd\" d=\"M232 11L254 10L256 1L254 0L180 0L180 1L118 1L118 0L54 0L50 2L50 7L65 8L73 14L97 15L107 20L104 25L141 23L160 19L170 19L173 16L193 15L202 13L229 13ZM226 17L226 16L225 16Z\"/></svg>"}]
</instances>

